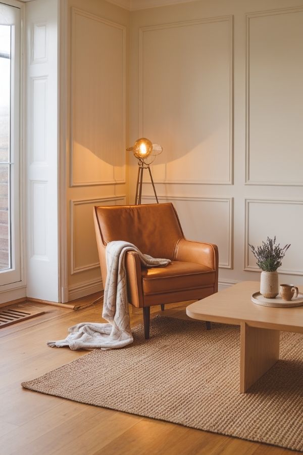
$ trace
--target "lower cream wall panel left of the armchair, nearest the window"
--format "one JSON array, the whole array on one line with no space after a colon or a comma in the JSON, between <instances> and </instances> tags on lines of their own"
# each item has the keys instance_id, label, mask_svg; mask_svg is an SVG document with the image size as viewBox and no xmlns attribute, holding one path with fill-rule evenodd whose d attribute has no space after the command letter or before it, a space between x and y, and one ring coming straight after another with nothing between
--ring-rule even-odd
<instances>
[{"instance_id":1,"label":"lower cream wall panel left of the armchair, nearest the window","mask_svg":"<svg viewBox=\"0 0 303 455\"><path fill-rule=\"evenodd\" d=\"M125 195L71 201L71 275L99 267L93 207L125 203Z\"/></svg>"}]
</instances>

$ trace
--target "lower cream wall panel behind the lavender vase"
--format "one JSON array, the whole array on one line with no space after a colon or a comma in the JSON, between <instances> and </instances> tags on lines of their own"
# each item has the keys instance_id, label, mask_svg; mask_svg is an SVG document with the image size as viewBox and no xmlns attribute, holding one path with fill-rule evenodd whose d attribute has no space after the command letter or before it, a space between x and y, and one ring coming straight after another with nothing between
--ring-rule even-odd
<instances>
[{"instance_id":1,"label":"lower cream wall panel behind the lavender vase","mask_svg":"<svg viewBox=\"0 0 303 455\"><path fill-rule=\"evenodd\" d=\"M244 270L260 272L248 243L261 245L276 236L281 247L291 244L279 274L303 275L302 219L303 200L246 199Z\"/></svg>"}]
</instances>

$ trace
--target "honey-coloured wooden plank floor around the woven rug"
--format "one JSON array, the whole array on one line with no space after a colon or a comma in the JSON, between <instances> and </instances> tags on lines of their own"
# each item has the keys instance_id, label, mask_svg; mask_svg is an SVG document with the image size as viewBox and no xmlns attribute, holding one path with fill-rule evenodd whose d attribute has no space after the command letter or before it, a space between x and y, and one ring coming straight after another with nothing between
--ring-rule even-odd
<instances>
[{"instance_id":1,"label":"honey-coloured wooden plank floor around the woven rug","mask_svg":"<svg viewBox=\"0 0 303 455\"><path fill-rule=\"evenodd\" d=\"M43 308L45 314L0 330L1 454L299 453L22 389L22 381L87 353L49 348L46 340L65 338L68 327L84 321L100 321L102 313L100 303L79 311L38 303L34 306ZM184 308L180 304L168 305L164 314L186 317ZM158 310L159 307L153 308L153 315ZM141 320L141 314L131 312L133 325Z\"/></svg>"}]
</instances>

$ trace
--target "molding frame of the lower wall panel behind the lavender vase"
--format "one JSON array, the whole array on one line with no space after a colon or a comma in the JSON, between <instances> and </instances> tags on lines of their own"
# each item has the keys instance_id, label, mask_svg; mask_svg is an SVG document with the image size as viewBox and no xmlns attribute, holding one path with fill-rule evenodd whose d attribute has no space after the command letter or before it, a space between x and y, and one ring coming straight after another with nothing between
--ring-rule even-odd
<instances>
[{"instance_id":1,"label":"molding frame of the lower wall panel behind the lavender vase","mask_svg":"<svg viewBox=\"0 0 303 455\"><path fill-rule=\"evenodd\" d=\"M249 254L249 204L290 204L303 206L303 200L298 199L245 199L245 231L244 231L244 268L243 270L260 272L259 267L251 267L248 265ZM285 275L303 275L303 269L285 269L279 268L279 274Z\"/></svg>"}]
</instances>

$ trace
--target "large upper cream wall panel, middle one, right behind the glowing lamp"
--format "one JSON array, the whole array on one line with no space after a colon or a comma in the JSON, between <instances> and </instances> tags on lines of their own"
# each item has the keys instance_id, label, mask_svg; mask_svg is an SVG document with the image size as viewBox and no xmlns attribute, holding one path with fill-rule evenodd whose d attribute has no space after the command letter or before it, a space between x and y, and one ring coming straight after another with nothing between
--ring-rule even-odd
<instances>
[{"instance_id":1,"label":"large upper cream wall panel, middle one, right behind the glowing lamp","mask_svg":"<svg viewBox=\"0 0 303 455\"><path fill-rule=\"evenodd\" d=\"M139 135L157 183L232 184L232 16L139 29Z\"/></svg>"}]
</instances>

